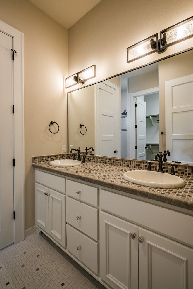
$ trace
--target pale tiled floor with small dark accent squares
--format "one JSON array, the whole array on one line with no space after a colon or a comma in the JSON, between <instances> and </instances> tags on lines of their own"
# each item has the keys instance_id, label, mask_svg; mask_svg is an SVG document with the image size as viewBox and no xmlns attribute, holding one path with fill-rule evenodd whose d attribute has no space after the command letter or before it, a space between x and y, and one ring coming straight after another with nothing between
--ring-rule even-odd
<instances>
[{"instance_id":1,"label":"pale tiled floor with small dark accent squares","mask_svg":"<svg viewBox=\"0 0 193 289\"><path fill-rule=\"evenodd\" d=\"M0 288L105 289L44 234L0 251Z\"/></svg>"}]
</instances>

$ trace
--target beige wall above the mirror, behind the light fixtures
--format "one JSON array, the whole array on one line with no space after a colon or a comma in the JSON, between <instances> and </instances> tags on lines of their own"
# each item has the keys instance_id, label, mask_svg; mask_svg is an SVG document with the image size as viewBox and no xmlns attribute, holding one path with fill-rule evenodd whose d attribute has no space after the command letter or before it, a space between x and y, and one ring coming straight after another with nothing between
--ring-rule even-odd
<instances>
[{"instance_id":1,"label":"beige wall above the mirror, behind the light fixtures","mask_svg":"<svg viewBox=\"0 0 193 289\"><path fill-rule=\"evenodd\" d=\"M68 29L68 74L95 64L96 78L86 81L94 83L183 49L185 42L127 63L127 47L191 17L192 11L192 0L183 5L179 0L102 0Z\"/></svg>"}]
</instances>

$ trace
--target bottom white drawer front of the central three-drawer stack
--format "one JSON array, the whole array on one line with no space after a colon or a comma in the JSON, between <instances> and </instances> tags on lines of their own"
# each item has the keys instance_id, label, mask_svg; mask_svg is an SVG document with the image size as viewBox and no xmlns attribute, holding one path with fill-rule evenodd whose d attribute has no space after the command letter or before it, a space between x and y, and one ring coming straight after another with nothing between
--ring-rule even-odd
<instances>
[{"instance_id":1,"label":"bottom white drawer front of the central three-drawer stack","mask_svg":"<svg viewBox=\"0 0 193 289\"><path fill-rule=\"evenodd\" d=\"M66 225L66 235L68 251L98 275L99 244L68 224Z\"/></svg>"}]
</instances>

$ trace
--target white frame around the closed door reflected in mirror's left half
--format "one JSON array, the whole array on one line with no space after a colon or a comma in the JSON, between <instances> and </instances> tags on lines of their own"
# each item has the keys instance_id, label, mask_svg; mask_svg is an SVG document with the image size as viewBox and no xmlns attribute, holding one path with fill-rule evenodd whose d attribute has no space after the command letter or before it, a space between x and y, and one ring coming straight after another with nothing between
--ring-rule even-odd
<instances>
[{"instance_id":1,"label":"white frame around the closed door reflected in mirror's left half","mask_svg":"<svg viewBox=\"0 0 193 289\"><path fill-rule=\"evenodd\" d=\"M108 80L104 80L102 81L102 83L104 83L105 85L113 88L114 90L116 90L116 149L118 149L118 154L116 156L116 158L119 158L120 157L120 133L119 133L119 126L120 126L120 111L119 111L119 102L120 102L120 95L119 95L119 86L117 86L116 84L108 81ZM97 83L98 85L100 83ZM97 95L98 95L98 89L97 89L97 84L95 84L95 89L94 89L94 126L95 126L95 129L94 129L94 132L95 132L95 135L94 135L94 139L95 139L95 153L97 155L97 152L99 151L99 142L98 142L98 139L99 139L99 126L98 126L98 119L99 119L99 102L98 102L98 99L97 99ZM100 156L100 155L99 155Z\"/></svg>"}]
</instances>

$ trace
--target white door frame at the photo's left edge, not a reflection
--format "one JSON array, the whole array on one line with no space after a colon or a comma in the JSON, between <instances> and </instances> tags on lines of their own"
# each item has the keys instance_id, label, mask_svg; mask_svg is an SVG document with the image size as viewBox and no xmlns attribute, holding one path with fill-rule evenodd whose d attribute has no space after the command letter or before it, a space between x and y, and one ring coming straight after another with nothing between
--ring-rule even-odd
<instances>
[{"instance_id":1,"label":"white door frame at the photo's left edge, not a reflection","mask_svg":"<svg viewBox=\"0 0 193 289\"><path fill-rule=\"evenodd\" d=\"M24 175L24 53L23 33L0 20L0 31L13 38L17 51L13 61L13 168L14 243L25 239L25 175Z\"/></svg>"}]
</instances>

